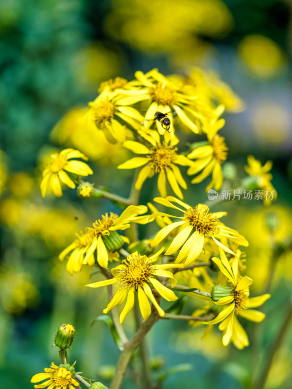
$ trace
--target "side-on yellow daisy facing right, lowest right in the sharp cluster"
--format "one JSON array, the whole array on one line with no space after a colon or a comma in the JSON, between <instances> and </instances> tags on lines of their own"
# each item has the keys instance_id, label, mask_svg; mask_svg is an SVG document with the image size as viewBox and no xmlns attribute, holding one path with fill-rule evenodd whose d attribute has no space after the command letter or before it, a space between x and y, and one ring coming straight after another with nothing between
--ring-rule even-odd
<instances>
[{"instance_id":1,"label":"side-on yellow daisy facing right, lowest right in the sharp cluster","mask_svg":"<svg viewBox=\"0 0 292 389\"><path fill-rule=\"evenodd\" d=\"M249 298L249 286L253 280L247 276L241 277L239 273L239 260L234 257L231 264L228 262L223 251L221 252L221 260L219 258L212 258L212 261L219 267L220 271L231 283L229 291L226 292L226 286L223 291L224 297L214 301L214 288L221 287L215 285L212 290L212 299L216 305L227 305L222 312L211 321L204 321L204 324L214 325L220 323L219 329L223 331L223 345L227 346L230 341L233 341L235 346L242 349L249 345L248 337L237 319L237 315L251 321L259 323L265 318L265 314L255 309L267 301L271 295L264 294L258 297Z\"/></svg>"}]
</instances>

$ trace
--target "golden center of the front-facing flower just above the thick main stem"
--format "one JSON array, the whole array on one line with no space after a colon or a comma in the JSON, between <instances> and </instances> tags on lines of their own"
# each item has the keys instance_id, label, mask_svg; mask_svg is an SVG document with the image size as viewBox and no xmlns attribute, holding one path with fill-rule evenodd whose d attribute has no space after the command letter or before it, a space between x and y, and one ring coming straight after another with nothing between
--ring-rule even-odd
<instances>
[{"instance_id":1,"label":"golden center of the front-facing flower just above the thick main stem","mask_svg":"<svg viewBox=\"0 0 292 389\"><path fill-rule=\"evenodd\" d=\"M117 278L120 280L120 286L133 286L137 289L138 286L148 281L151 265L148 265L147 260L146 255L141 256L137 253L132 254L130 259L124 259L122 261L124 268L118 270Z\"/></svg>"}]
</instances>

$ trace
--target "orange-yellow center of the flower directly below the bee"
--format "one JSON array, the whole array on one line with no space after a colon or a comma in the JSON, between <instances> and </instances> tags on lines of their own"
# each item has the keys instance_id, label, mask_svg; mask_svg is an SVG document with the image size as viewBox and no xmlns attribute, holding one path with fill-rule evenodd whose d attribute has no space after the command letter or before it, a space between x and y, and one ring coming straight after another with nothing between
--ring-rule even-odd
<instances>
[{"instance_id":1,"label":"orange-yellow center of the flower directly below the bee","mask_svg":"<svg viewBox=\"0 0 292 389\"><path fill-rule=\"evenodd\" d=\"M161 146L152 147L151 150L151 154L147 155L147 158L149 159L148 165L155 173L159 173L163 168L170 166L177 157L177 147L172 149L172 147L167 146L165 142L163 142Z\"/></svg>"}]
</instances>

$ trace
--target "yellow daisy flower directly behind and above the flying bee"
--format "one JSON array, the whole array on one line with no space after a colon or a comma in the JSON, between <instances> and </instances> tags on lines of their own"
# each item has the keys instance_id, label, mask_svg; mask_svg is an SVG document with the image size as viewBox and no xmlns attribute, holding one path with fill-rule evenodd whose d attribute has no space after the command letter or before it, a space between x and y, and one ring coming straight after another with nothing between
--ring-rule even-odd
<instances>
[{"instance_id":1,"label":"yellow daisy flower directly behind and above the flying bee","mask_svg":"<svg viewBox=\"0 0 292 389\"><path fill-rule=\"evenodd\" d=\"M176 83L159 73L157 69L145 74L142 71L136 71L135 77L137 88L119 89L119 93L125 96L121 100L123 104L132 105L150 99L151 104L145 115L145 128L148 128L151 121L154 120L155 112L175 111L179 120L192 132L198 134L200 132L198 125L200 126L205 121L206 116L213 116L213 111L209 106L202 103L197 96L184 94ZM134 82L133 85L135 85ZM195 122L198 122L198 125ZM156 121L156 125L159 134L163 135L165 128L158 121ZM173 126L171 126L170 131L174 132Z\"/></svg>"}]
</instances>

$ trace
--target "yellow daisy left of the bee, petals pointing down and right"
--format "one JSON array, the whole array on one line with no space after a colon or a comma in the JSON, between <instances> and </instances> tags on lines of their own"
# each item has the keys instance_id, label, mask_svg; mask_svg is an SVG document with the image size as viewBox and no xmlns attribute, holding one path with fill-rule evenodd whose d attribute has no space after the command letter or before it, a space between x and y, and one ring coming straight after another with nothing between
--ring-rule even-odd
<instances>
[{"instance_id":1,"label":"yellow daisy left of the bee, petals pointing down and right","mask_svg":"<svg viewBox=\"0 0 292 389\"><path fill-rule=\"evenodd\" d=\"M120 120L136 130L143 121L137 109L122 101L124 96L120 96L118 90L111 92L105 88L94 101L88 103L89 110L86 113L86 119L103 130L108 141L113 143L123 143L127 137L127 128L120 124Z\"/></svg>"}]
</instances>

